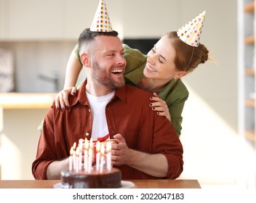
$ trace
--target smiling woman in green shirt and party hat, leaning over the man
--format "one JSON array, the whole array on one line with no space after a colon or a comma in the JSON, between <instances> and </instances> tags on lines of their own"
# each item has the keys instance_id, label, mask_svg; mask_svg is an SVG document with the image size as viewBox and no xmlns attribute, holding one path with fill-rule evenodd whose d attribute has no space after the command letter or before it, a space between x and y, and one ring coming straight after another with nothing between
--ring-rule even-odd
<instances>
[{"instance_id":1,"label":"smiling woman in green shirt and party hat, leaning over the man","mask_svg":"<svg viewBox=\"0 0 256 203\"><path fill-rule=\"evenodd\" d=\"M188 90L180 78L208 59L209 51L199 43L204 14L205 12L191 20L191 22L201 21L199 30L194 30L197 37L191 37L191 41L187 40L188 36L180 33L187 33L187 30L191 31L193 28L183 26L177 32L172 31L162 36L147 56L124 44L124 57L127 60L124 74L126 83L153 93L150 107L157 115L165 116L170 120L178 136L182 129L181 114L188 99ZM76 94L74 86L81 68L76 46L68 61L64 89L55 97L52 105L55 102L56 107L59 105L62 109L69 107L68 94Z\"/></svg>"}]
</instances>

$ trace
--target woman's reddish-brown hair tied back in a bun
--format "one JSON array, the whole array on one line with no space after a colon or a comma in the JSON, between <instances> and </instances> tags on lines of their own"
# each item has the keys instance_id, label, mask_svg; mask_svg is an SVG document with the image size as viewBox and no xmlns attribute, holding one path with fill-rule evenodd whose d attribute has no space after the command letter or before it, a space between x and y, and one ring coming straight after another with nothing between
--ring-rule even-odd
<instances>
[{"instance_id":1,"label":"woman's reddish-brown hair tied back in a bun","mask_svg":"<svg viewBox=\"0 0 256 203\"><path fill-rule=\"evenodd\" d=\"M203 44L199 43L197 47L190 46L181 41L175 31L169 32L164 36L170 39L175 48L175 65L177 70L192 72L199 64L208 60L209 51Z\"/></svg>"}]
</instances>

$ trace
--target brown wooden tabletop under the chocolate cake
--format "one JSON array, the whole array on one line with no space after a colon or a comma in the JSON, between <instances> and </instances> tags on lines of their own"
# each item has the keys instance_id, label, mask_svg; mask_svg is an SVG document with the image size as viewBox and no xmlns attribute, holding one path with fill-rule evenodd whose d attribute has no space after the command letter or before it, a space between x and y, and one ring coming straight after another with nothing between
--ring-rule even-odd
<instances>
[{"instance_id":1,"label":"brown wooden tabletop under the chocolate cake","mask_svg":"<svg viewBox=\"0 0 256 203\"><path fill-rule=\"evenodd\" d=\"M131 180L135 188L201 188L196 180ZM0 181L0 188L53 188L59 180Z\"/></svg>"}]
</instances>

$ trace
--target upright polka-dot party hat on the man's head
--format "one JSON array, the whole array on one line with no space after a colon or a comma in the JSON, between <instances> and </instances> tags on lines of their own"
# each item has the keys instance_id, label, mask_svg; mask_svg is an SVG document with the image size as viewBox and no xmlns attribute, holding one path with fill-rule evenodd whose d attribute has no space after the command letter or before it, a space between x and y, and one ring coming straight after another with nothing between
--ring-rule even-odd
<instances>
[{"instance_id":1,"label":"upright polka-dot party hat on the man's head","mask_svg":"<svg viewBox=\"0 0 256 203\"><path fill-rule=\"evenodd\" d=\"M93 18L91 28L89 29L92 32L111 32L111 20L108 17L108 10L105 6L105 2L100 0L99 5L97 6L97 11L95 12L95 17Z\"/></svg>"}]
</instances>

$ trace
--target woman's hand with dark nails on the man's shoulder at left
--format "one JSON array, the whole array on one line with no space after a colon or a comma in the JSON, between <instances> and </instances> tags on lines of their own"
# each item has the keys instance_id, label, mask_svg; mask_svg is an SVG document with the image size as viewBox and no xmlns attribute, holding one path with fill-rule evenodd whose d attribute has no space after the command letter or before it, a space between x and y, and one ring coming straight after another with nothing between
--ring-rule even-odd
<instances>
[{"instance_id":1,"label":"woman's hand with dark nails on the man's shoulder at left","mask_svg":"<svg viewBox=\"0 0 256 203\"><path fill-rule=\"evenodd\" d=\"M70 88L64 88L62 91L55 96L55 99L52 100L51 102L51 107L55 104L55 107L58 109L61 107L61 109L69 108L69 102L68 102L68 96L69 95L75 95L76 94L76 87L70 87Z\"/></svg>"}]
</instances>

